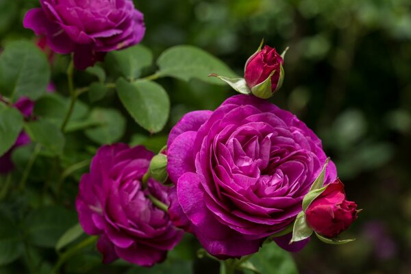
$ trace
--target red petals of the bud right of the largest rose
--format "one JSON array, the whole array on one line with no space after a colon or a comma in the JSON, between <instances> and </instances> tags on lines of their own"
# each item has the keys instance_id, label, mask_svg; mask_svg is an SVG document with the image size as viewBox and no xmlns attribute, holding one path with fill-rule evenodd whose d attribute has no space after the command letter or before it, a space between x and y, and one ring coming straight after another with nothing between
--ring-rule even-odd
<instances>
[{"instance_id":1,"label":"red petals of the bud right of the largest rose","mask_svg":"<svg viewBox=\"0 0 411 274\"><path fill-rule=\"evenodd\" d=\"M328 238L335 238L357 219L357 205L347 201L340 179L325 188L306 210L308 225Z\"/></svg>"}]
</instances>

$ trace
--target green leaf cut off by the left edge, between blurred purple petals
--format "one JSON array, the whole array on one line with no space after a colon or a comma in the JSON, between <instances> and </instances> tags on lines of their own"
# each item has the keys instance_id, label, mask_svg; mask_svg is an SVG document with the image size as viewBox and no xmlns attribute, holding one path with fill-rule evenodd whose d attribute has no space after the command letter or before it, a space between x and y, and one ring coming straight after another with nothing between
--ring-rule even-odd
<instances>
[{"instance_id":1,"label":"green leaf cut off by the left edge, between blurred purple petals","mask_svg":"<svg viewBox=\"0 0 411 274\"><path fill-rule=\"evenodd\" d=\"M0 103L0 156L14 145L22 127L21 113Z\"/></svg>"}]
</instances>

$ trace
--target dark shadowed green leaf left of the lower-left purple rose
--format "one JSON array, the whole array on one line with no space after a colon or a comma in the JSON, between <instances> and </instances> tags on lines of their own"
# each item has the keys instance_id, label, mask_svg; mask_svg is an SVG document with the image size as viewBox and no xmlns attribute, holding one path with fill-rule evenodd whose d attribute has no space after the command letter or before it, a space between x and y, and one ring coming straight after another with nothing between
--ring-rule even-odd
<instances>
[{"instance_id":1,"label":"dark shadowed green leaf left of the lower-left purple rose","mask_svg":"<svg viewBox=\"0 0 411 274\"><path fill-rule=\"evenodd\" d=\"M29 242L38 247L55 247L60 237L77 221L74 211L56 206L38 208L25 219Z\"/></svg>"}]
</instances>

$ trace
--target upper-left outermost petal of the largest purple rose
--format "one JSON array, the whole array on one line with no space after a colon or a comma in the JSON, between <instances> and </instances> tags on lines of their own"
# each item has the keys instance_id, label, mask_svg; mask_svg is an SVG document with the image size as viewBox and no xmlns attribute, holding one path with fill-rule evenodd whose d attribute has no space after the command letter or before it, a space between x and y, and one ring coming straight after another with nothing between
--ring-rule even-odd
<instances>
[{"instance_id":1,"label":"upper-left outermost petal of the largest purple rose","mask_svg":"<svg viewBox=\"0 0 411 274\"><path fill-rule=\"evenodd\" d=\"M203 123L206 123L212 111L210 110L198 110L194 112L188 112L183 118L171 129L169 134L169 140L167 146L170 147L175 138L184 132L197 131Z\"/></svg>"}]
</instances>

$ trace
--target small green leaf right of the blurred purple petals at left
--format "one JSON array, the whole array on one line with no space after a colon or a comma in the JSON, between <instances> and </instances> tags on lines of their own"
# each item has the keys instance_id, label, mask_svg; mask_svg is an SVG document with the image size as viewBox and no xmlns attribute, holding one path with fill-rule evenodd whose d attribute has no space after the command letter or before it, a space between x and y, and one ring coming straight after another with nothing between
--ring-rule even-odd
<instances>
[{"instance_id":1,"label":"small green leaf right of the blurred purple petals at left","mask_svg":"<svg viewBox=\"0 0 411 274\"><path fill-rule=\"evenodd\" d=\"M54 155L62 155L66 142L60 128L48 121L38 120L25 124L25 131L35 142L40 142Z\"/></svg>"}]
</instances>

